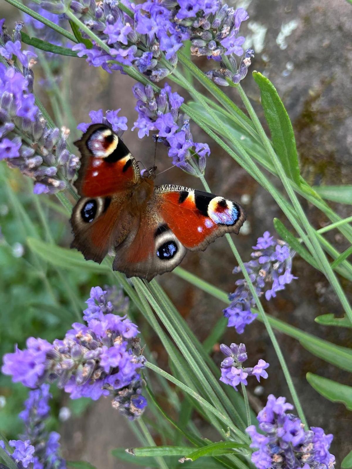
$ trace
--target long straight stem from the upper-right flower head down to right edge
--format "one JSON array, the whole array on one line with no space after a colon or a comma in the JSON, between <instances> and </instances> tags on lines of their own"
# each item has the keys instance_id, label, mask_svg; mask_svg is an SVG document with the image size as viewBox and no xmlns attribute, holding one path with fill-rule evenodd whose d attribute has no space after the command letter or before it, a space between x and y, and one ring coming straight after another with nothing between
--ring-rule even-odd
<instances>
[{"instance_id":1,"label":"long straight stem from the upper-right flower head down to right edge","mask_svg":"<svg viewBox=\"0 0 352 469\"><path fill-rule=\"evenodd\" d=\"M253 123L254 123L257 131L258 131L258 134L260 135L260 137L262 139L262 142L263 142L263 145L264 145L265 149L268 151L268 154L271 156L272 161L274 162L277 174L279 175L279 177L280 177L280 179L283 183L283 186L286 189L286 192L287 192L288 196L291 199L292 205L293 205L294 209L296 210L302 225L305 227L306 233L308 234L309 239L310 239L310 241L313 245L314 251L315 251L315 256L314 256L314 253L312 253L312 255L315 257L315 259L319 259L325 276L329 280L330 285L333 287L335 293L337 294L337 297L338 297L339 301L341 302L342 306L344 307L344 310L345 310L348 318L350 319L350 321L352 323L352 309L351 309L350 303L348 302L347 297L344 294L344 290L341 288L341 285L338 282L334 271L331 269L329 261L328 261L327 257L325 256L325 253L324 253L323 249L321 248L321 245L320 245L320 243L317 239L317 235L315 233L315 230L311 226L311 224L309 223L308 219L306 218L306 214L303 211L301 205L299 204L298 198L297 198L294 190L292 189L291 184L288 181L288 178L287 178L287 176L284 172L283 166L282 166L278 156L276 155L276 153L275 153L275 151L274 151L274 149L271 145L271 142L268 139L264 129L262 128L262 126L260 124L260 121L258 119L258 116L254 112L254 109L253 109L249 99L245 95L245 92L243 91L243 89L240 85L238 85L237 90L238 90L238 93L239 93L239 95L240 95L240 97L241 97L241 99L242 99L242 101L243 101L249 115L251 116L251 119L252 119L252 121L253 121Z\"/></svg>"}]
</instances>

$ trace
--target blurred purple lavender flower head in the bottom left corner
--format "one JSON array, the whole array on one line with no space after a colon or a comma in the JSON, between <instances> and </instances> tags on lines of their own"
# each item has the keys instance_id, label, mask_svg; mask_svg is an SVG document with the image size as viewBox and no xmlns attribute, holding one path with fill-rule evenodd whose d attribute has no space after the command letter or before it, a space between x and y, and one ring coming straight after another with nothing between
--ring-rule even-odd
<instances>
[{"instance_id":1,"label":"blurred purple lavender flower head in the bottom left corner","mask_svg":"<svg viewBox=\"0 0 352 469\"><path fill-rule=\"evenodd\" d=\"M7 453L15 460L19 469L33 467L35 469L66 469L66 461L61 458L60 435L56 431L47 432L45 421L49 417L51 399L49 385L42 384L38 389L28 393L24 410L19 417L24 422L24 433L18 440L10 440L15 450ZM5 449L5 444L0 441Z\"/></svg>"}]
</instances>

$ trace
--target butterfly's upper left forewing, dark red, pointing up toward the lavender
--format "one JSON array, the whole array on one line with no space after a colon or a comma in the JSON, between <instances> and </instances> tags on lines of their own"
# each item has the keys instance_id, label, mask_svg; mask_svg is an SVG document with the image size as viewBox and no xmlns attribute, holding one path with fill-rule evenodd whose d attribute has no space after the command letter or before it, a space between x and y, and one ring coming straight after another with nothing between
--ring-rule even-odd
<instances>
[{"instance_id":1,"label":"butterfly's upper left forewing, dark red, pointing up toward the lavender","mask_svg":"<svg viewBox=\"0 0 352 469\"><path fill-rule=\"evenodd\" d=\"M103 197L130 189L140 180L137 161L106 125L92 124L75 145L82 155L75 182L79 195Z\"/></svg>"}]
</instances>

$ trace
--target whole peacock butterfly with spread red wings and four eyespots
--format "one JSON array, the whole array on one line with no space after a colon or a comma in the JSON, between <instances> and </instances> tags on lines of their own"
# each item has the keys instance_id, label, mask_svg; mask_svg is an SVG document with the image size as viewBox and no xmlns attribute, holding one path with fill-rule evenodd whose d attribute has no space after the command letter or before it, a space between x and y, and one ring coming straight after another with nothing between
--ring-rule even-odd
<instances>
[{"instance_id":1,"label":"whole peacock butterfly with spread red wings and four eyespots","mask_svg":"<svg viewBox=\"0 0 352 469\"><path fill-rule=\"evenodd\" d=\"M172 271L187 250L205 250L225 233L238 234L243 208L231 200L182 186L155 186L155 167L138 163L112 129L92 124L75 142L81 198L73 208L71 248L99 264L115 248L113 269L152 280Z\"/></svg>"}]
</instances>

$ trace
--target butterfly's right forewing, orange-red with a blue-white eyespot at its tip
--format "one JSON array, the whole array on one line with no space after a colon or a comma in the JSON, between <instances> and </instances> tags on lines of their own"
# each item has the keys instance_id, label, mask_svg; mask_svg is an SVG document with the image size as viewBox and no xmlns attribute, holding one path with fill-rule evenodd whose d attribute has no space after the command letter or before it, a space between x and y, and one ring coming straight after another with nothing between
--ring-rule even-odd
<instances>
[{"instance_id":1,"label":"butterfly's right forewing, orange-red with a blue-white eyespot at its tip","mask_svg":"<svg viewBox=\"0 0 352 469\"><path fill-rule=\"evenodd\" d=\"M232 200L181 186L157 186L158 212L176 238L191 251L205 250L225 233L238 234L245 211Z\"/></svg>"}]
</instances>

